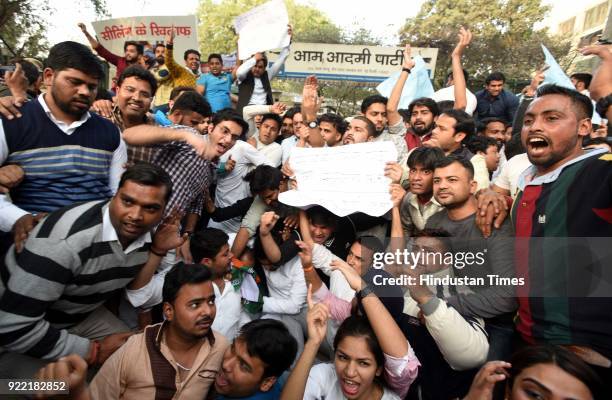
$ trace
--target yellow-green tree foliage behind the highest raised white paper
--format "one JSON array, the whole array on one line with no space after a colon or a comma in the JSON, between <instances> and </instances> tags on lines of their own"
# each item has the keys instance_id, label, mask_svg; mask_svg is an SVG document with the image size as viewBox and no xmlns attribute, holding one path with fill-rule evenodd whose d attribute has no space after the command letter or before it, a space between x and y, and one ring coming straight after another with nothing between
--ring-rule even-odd
<instances>
[{"instance_id":1,"label":"yellow-green tree foliage behind the highest raised white paper","mask_svg":"<svg viewBox=\"0 0 612 400\"><path fill-rule=\"evenodd\" d=\"M251 8L267 0L201 0L198 7L200 25L198 35L200 50L204 55L210 53L232 53L236 51L237 36L233 30L233 20ZM342 43L340 28L319 10L286 0L289 21L293 27L293 40L314 43Z\"/></svg>"}]
</instances>

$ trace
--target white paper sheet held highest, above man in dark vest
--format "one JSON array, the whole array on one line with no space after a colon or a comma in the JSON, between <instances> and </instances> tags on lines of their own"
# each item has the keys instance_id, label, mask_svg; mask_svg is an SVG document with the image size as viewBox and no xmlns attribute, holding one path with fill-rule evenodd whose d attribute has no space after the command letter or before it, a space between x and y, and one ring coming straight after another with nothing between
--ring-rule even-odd
<instances>
[{"instance_id":1,"label":"white paper sheet held highest, above man in dark vest","mask_svg":"<svg viewBox=\"0 0 612 400\"><path fill-rule=\"evenodd\" d=\"M254 53L289 45L289 14L283 0L271 0L234 19L241 60Z\"/></svg>"}]
</instances>

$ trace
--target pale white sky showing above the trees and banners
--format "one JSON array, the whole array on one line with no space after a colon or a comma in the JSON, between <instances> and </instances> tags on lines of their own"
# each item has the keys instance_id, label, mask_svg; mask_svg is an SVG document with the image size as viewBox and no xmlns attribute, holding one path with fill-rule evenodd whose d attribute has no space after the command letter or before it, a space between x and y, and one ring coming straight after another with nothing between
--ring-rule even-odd
<instances>
[{"instance_id":1,"label":"pale white sky showing above the trees and banners","mask_svg":"<svg viewBox=\"0 0 612 400\"><path fill-rule=\"evenodd\" d=\"M417 14L424 0L297 0L309 4L328 15L338 26L352 30L361 24L370 29L384 44L397 43L397 31L406 18ZM583 3L601 0L583 0ZM55 44L63 40L85 39L76 26L78 22L88 23L96 19L92 7L86 7L88 0L49 0L53 11L47 18L49 42ZM133 15L188 15L195 13L198 0L106 0L111 17ZM544 0L553 6L548 24L557 24L574 14L575 0ZM349 11L350 10L350 11ZM90 32L93 31L89 26Z\"/></svg>"}]
</instances>

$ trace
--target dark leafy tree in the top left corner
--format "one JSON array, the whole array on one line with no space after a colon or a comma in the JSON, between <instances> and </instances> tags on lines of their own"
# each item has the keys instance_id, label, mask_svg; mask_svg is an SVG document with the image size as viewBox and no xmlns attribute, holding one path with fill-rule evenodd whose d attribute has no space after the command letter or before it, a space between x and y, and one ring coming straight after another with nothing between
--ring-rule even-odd
<instances>
[{"instance_id":1,"label":"dark leafy tree in the top left corner","mask_svg":"<svg viewBox=\"0 0 612 400\"><path fill-rule=\"evenodd\" d=\"M97 15L106 14L105 0L79 0L93 6ZM0 46L8 58L40 57L49 43L44 16L51 7L42 0L0 0Z\"/></svg>"}]
</instances>

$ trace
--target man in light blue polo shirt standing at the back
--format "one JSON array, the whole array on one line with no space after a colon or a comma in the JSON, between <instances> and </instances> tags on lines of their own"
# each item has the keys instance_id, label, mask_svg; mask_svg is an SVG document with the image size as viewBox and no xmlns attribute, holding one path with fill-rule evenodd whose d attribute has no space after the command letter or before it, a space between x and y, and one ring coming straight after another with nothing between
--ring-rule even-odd
<instances>
[{"instance_id":1,"label":"man in light blue polo shirt standing at the back","mask_svg":"<svg viewBox=\"0 0 612 400\"><path fill-rule=\"evenodd\" d=\"M210 72L201 75L197 81L198 93L204 95L213 109L213 113L224 108L231 108L230 89L234 77L232 74L223 72L223 59L221 54L208 56L208 67Z\"/></svg>"}]
</instances>

